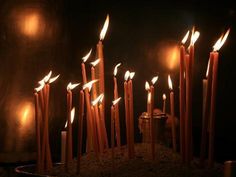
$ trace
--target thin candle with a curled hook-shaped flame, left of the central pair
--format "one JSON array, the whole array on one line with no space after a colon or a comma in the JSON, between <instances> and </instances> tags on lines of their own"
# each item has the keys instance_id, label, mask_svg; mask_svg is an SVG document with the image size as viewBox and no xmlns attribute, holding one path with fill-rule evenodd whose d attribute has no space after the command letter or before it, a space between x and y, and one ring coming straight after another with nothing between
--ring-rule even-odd
<instances>
[{"instance_id":1,"label":"thin candle with a curled hook-shaped flame, left of the central pair","mask_svg":"<svg viewBox=\"0 0 236 177\"><path fill-rule=\"evenodd\" d=\"M117 87L117 69L121 65L121 63L118 63L115 66L114 72L113 72L113 81L114 81L114 99L118 99L118 87ZM121 147L121 141L120 141L120 115L119 115L119 105L115 105L115 132L116 132L116 143L118 148Z\"/></svg>"}]
</instances>

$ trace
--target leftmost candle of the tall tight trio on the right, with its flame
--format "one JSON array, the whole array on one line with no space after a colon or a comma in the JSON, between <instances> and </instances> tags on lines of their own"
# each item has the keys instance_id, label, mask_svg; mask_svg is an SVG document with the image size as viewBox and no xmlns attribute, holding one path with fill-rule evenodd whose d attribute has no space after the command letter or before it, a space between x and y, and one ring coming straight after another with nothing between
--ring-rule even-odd
<instances>
[{"instance_id":1,"label":"leftmost candle of the tall tight trio on the right, with its flame","mask_svg":"<svg viewBox=\"0 0 236 177\"><path fill-rule=\"evenodd\" d=\"M185 160L185 79L184 79L184 73L185 73L185 47L184 44L186 43L187 39L189 37L189 31L186 33L184 38L181 41L180 46L180 67L179 67L179 77L180 77L180 90L179 90L179 111L180 111L180 153L182 156L182 161Z\"/></svg>"}]
</instances>

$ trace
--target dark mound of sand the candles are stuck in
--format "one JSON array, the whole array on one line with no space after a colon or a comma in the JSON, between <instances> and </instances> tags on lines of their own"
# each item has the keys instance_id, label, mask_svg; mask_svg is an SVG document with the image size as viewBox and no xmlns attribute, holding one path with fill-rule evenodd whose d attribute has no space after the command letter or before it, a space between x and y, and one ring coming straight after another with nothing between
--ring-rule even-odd
<instances>
[{"instance_id":1,"label":"dark mound of sand the candles are stuck in","mask_svg":"<svg viewBox=\"0 0 236 177\"><path fill-rule=\"evenodd\" d=\"M136 144L135 158L129 160L127 149L116 149L115 169L112 170L111 150L103 153L100 162L94 154L81 159L81 173L76 175L76 161L70 164L70 173L65 173L63 165L54 167L51 175L60 177L222 177L223 165L215 164L214 168L198 167L199 160L194 159L189 167L181 163L181 157L172 149L156 145L156 159L151 160L150 144Z\"/></svg>"}]
</instances>

